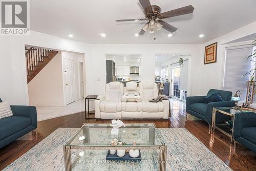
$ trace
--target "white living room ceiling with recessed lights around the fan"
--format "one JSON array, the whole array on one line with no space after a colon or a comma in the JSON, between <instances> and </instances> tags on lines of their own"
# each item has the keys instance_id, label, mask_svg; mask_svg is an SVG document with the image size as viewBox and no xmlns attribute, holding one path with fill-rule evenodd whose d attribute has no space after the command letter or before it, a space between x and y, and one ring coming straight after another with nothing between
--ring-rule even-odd
<instances>
[{"instance_id":1,"label":"white living room ceiling with recessed lights around the fan","mask_svg":"<svg viewBox=\"0 0 256 171\"><path fill-rule=\"evenodd\" d=\"M161 29L135 37L145 22L116 23L116 19L143 18L138 0L30 1L31 30L91 44L203 44L256 20L255 0L151 0L162 12L187 5L193 14L164 19L178 28L172 37ZM106 37L99 34L105 33ZM199 34L204 34L199 38Z\"/></svg>"}]
</instances>

